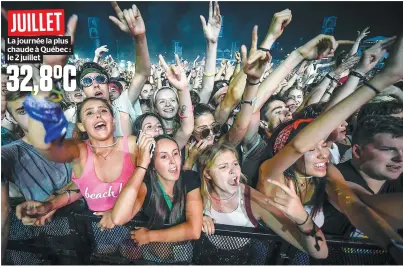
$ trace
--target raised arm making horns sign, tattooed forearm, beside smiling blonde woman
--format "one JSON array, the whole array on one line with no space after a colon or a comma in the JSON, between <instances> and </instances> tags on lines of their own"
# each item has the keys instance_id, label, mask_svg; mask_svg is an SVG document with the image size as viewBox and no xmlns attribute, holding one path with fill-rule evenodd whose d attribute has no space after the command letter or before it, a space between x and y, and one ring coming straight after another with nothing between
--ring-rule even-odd
<instances>
[{"instance_id":1,"label":"raised arm making horns sign, tattooed forearm, beside smiling blonde woman","mask_svg":"<svg viewBox=\"0 0 403 268\"><path fill-rule=\"evenodd\" d=\"M176 65L168 67L164 58L160 55L160 61L164 67L169 83L175 87L178 91L179 96L179 117L181 119L180 128L175 133L175 140L178 143L179 150L185 147L187 141L192 135L194 128L194 116L192 109L192 99L190 97L189 85L186 79L185 70L183 69L182 63L178 57L175 55Z\"/></svg>"}]
</instances>

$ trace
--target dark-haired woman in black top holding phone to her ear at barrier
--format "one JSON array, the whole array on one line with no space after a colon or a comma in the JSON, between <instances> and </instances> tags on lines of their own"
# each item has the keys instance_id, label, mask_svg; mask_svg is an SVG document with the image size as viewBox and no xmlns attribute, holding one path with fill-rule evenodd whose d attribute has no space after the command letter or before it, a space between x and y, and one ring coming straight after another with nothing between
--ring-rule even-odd
<instances>
[{"instance_id":1,"label":"dark-haired woman in black top holding phone to her ear at barrier","mask_svg":"<svg viewBox=\"0 0 403 268\"><path fill-rule=\"evenodd\" d=\"M152 143L155 143L155 150L151 159ZM181 170L182 159L176 141L167 135L153 139L142 134L138 159L136 171L112 210L113 223L129 222L142 208L149 221L147 228L131 232L138 245L198 239L203 216L200 179L193 171ZM143 256L157 261L175 259L179 248L165 245L164 250L161 244L155 250L150 246L150 251ZM190 243L182 246L191 247Z\"/></svg>"}]
</instances>

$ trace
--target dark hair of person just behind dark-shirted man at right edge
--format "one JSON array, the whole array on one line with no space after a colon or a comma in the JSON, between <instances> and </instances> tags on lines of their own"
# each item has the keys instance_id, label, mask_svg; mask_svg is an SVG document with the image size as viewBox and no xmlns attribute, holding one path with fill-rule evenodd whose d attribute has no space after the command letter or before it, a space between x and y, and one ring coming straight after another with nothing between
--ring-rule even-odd
<instances>
[{"instance_id":1,"label":"dark hair of person just behind dark-shirted man at right edge","mask_svg":"<svg viewBox=\"0 0 403 268\"><path fill-rule=\"evenodd\" d=\"M385 101L367 103L363 105L357 115L357 121L361 121L369 115L392 115L403 112L403 103L397 101Z\"/></svg>"}]
</instances>

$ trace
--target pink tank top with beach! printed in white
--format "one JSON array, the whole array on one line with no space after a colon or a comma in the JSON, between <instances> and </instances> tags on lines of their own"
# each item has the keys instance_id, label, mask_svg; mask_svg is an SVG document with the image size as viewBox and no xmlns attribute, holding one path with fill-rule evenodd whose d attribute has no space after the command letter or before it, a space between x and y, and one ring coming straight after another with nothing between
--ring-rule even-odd
<instances>
[{"instance_id":1,"label":"pink tank top with beach! printed in white","mask_svg":"<svg viewBox=\"0 0 403 268\"><path fill-rule=\"evenodd\" d=\"M89 141L85 141L87 145L87 163L81 177L76 178L73 172L72 180L77 184L85 201L87 201L89 209L92 211L103 212L112 209L123 187L133 175L134 166L130 160L127 137L124 136L122 139L124 152L122 173L112 182L103 182L98 179L94 167L94 154L89 146Z\"/></svg>"}]
</instances>

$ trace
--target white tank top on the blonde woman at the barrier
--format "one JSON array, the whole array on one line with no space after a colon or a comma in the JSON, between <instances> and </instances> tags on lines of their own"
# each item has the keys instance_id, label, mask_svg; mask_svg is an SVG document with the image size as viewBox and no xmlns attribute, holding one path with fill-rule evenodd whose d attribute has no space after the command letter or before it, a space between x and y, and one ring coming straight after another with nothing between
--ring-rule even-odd
<instances>
[{"instance_id":1,"label":"white tank top on the blonde woman at the barrier","mask_svg":"<svg viewBox=\"0 0 403 268\"><path fill-rule=\"evenodd\" d=\"M211 206L210 211L205 211L205 214L213 218L218 224L226 224L241 227L255 227L249 220L244 207L244 198L241 193L241 184L238 187L238 207L233 212L222 213L214 210Z\"/></svg>"}]
</instances>

